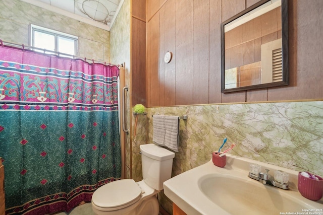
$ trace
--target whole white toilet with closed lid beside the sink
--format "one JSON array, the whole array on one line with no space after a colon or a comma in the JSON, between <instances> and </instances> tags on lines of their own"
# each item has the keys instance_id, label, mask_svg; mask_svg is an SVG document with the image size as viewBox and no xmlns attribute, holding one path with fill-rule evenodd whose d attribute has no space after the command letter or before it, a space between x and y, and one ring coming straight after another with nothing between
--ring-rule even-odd
<instances>
[{"instance_id":1,"label":"whole white toilet with closed lid beside the sink","mask_svg":"<svg viewBox=\"0 0 323 215\"><path fill-rule=\"evenodd\" d=\"M175 153L154 144L140 146L143 180L122 179L99 187L92 195L98 215L158 215L156 194L171 178Z\"/></svg>"}]
</instances>

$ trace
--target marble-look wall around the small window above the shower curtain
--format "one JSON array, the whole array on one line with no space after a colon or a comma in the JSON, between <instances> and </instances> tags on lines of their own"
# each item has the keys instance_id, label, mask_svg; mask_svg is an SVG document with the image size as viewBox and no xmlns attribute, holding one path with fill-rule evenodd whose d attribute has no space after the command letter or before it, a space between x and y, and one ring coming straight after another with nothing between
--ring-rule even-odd
<instances>
[{"instance_id":1,"label":"marble-look wall around the small window above the shower curtain","mask_svg":"<svg viewBox=\"0 0 323 215\"><path fill-rule=\"evenodd\" d=\"M0 39L29 44L29 25L79 37L79 56L110 62L110 33L19 0L0 1ZM114 62L111 62L114 63Z\"/></svg>"}]
</instances>

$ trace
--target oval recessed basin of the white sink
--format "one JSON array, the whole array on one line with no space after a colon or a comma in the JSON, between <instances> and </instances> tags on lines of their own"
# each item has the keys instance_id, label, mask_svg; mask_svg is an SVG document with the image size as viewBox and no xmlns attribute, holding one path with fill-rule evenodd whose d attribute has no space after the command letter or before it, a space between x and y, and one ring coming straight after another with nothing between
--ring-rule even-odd
<instances>
[{"instance_id":1,"label":"oval recessed basin of the white sink","mask_svg":"<svg viewBox=\"0 0 323 215\"><path fill-rule=\"evenodd\" d=\"M228 175L203 176L198 186L209 200L231 214L280 214L289 211L288 208L299 212L305 208L280 193L279 188Z\"/></svg>"}]
</instances>

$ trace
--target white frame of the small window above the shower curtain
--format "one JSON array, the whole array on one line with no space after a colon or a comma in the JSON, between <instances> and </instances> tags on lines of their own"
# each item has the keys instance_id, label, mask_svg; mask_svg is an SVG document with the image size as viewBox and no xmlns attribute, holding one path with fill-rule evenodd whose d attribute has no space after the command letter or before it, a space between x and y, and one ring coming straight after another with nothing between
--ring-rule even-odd
<instances>
[{"instance_id":1,"label":"white frame of the small window above the shower curtain","mask_svg":"<svg viewBox=\"0 0 323 215\"><path fill-rule=\"evenodd\" d=\"M34 44L35 44L34 43L34 32L35 31L55 36L55 52L59 52L59 50L58 50L58 39L59 39L59 37L74 40L74 53L75 53L75 56L78 56L79 37L71 35L71 34L63 33L63 32L60 32L60 31L52 30L52 29L49 29L49 28L44 28L44 27L41 27L41 26L30 24L30 41L29 42L30 42L30 46L33 46L33 47L34 47ZM62 55L64 55L64 53L62 53Z\"/></svg>"}]
</instances>

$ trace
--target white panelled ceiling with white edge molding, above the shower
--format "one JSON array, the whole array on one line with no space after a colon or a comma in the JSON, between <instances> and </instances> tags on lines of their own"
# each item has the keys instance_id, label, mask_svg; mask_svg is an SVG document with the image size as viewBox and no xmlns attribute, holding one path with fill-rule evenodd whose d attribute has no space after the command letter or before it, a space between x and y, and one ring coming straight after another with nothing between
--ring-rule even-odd
<instances>
[{"instance_id":1,"label":"white panelled ceiling with white edge molding, above the shower","mask_svg":"<svg viewBox=\"0 0 323 215\"><path fill-rule=\"evenodd\" d=\"M22 0L110 31L124 0Z\"/></svg>"}]
</instances>

